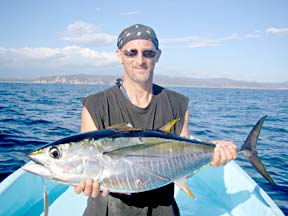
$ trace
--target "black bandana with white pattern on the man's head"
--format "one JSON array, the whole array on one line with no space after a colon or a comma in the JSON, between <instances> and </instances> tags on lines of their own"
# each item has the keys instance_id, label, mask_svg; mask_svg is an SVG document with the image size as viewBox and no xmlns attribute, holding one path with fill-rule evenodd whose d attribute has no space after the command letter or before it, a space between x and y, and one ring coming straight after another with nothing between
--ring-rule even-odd
<instances>
[{"instance_id":1,"label":"black bandana with white pattern on the man's head","mask_svg":"<svg viewBox=\"0 0 288 216\"><path fill-rule=\"evenodd\" d=\"M154 30L141 24L135 24L124 29L118 37L117 47L121 49L129 41L138 39L150 40L158 49L159 43Z\"/></svg>"}]
</instances>

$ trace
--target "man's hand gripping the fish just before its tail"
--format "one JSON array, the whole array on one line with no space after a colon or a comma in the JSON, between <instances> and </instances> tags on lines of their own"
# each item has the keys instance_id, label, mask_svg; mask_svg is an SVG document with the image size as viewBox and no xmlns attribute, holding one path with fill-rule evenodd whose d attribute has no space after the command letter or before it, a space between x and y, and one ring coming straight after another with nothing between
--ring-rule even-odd
<instances>
[{"instance_id":1,"label":"man's hand gripping the fish just before its tail","mask_svg":"<svg viewBox=\"0 0 288 216\"><path fill-rule=\"evenodd\" d=\"M237 146L235 143L223 140L216 140L213 143L216 145L211 163L213 167L224 166L230 160L237 158Z\"/></svg>"}]
</instances>

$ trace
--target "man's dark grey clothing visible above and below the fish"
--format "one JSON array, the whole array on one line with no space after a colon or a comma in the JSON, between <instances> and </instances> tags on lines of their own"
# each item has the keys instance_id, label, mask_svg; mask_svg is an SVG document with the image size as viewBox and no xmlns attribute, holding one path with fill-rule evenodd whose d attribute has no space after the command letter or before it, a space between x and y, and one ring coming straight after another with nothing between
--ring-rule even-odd
<instances>
[{"instance_id":1,"label":"man's dark grey clothing visible above and below the fish","mask_svg":"<svg viewBox=\"0 0 288 216\"><path fill-rule=\"evenodd\" d=\"M130 123L135 128L155 130L179 118L180 121L172 129L172 133L179 135L184 124L189 99L154 84L153 97L146 108L133 105L118 86L89 95L82 102L99 130L119 123ZM159 189L131 195L110 193L108 198L103 198L101 195L96 199L89 198L84 215L147 215L151 213L153 215L153 212L158 212L160 215L173 215L177 214L177 211L174 184L169 184Z\"/></svg>"}]
</instances>

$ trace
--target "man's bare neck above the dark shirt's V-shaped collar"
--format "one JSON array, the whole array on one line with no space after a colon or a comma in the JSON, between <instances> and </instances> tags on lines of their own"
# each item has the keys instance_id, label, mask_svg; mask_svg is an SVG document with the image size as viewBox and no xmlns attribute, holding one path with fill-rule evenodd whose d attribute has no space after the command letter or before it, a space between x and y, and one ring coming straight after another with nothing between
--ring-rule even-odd
<instances>
[{"instance_id":1,"label":"man's bare neck above the dark shirt's V-shaped collar","mask_svg":"<svg viewBox=\"0 0 288 216\"><path fill-rule=\"evenodd\" d=\"M129 97L132 104L140 108L146 108L153 97L152 82L147 83L135 83L123 81L123 87Z\"/></svg>"}]
</instances>

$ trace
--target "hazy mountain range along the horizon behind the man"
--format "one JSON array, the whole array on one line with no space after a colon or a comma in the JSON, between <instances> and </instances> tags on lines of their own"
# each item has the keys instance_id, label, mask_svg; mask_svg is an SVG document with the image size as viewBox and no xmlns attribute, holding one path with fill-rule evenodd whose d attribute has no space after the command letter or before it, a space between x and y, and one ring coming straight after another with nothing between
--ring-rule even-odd
<instances>
[{"instance_id":1,"label":"hazy mountain range along the horizon behind the man","mask_svg":"<svg viewBox=\"0 0 288 216\"><path fill-rule=\"evenodd\" d=\"M2 79L1 82L63 83L63 84L113 84L119 76L113 75L58 75L35 79ZM121 78L121 77L120 77ZM226 78L196 79L190 77L155 76L154 83L163 86L191 86L203 88L245 88L245 89L279 89L288 90L288 82L261 83L237 81Z\"/></svg>"}]
</instances>

